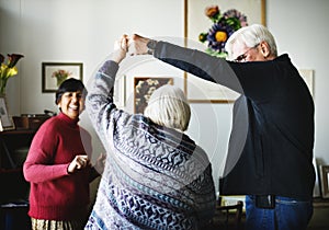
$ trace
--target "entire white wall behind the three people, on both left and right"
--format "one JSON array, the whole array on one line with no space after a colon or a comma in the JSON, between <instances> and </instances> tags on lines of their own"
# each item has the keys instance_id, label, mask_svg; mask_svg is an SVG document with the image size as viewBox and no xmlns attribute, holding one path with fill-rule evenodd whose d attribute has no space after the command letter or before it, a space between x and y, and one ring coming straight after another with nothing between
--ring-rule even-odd
<instances>
[{"instance_id":1,"label":"entire white wall behind the three people, on both left and right","mask_svg":"<svg viewBox=\"0 0 329 230\"><path fill-rule=\"evenodd\" d=\"M266 25L276 38L279 53L288 53L298 68L315 70L315 156L326 164L328 12L328 0L266 0ZM25 55L19 76L8 83L10 113L57 111L54 94L42 93L43 61L81 61L87 83L123 33L182 37L183 0L0 0L0 53ZM189 135L208 151L218 174L231 105L192 104L192 108ZM86 115L82 124L90 128Z\"/></svg>"}]
</instances>

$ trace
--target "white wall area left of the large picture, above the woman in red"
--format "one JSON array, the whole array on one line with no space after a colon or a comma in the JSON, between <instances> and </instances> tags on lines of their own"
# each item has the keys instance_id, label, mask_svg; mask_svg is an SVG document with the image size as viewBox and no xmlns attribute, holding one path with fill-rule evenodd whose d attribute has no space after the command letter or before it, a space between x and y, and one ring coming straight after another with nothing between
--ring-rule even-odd
<instances>
[{"instance_id":1,"label":"white wall area left of the large picture, above the woman in red","mask_svg":"<svg viewBox=\"0 0 329 230\"><path fill-rule=\"evenodd\" d=\"M58 111L55 93L42 93L42 62L83 62L88 84L122 34L183 35L183 1L177 0L1 0L0 12L1 54L25 55L19 76L8 82L11 115ZM93 131L87 113L81 120ZM97 137L94 141L95 151L101 151Z\"/></svg>"}]
</instances>

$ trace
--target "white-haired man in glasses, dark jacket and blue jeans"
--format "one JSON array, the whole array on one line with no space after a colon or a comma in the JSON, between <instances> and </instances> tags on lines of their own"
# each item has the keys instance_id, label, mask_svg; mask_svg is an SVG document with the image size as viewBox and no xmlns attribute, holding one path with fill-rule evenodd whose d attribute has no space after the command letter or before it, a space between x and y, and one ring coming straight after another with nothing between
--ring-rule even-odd
<instances>
[{"instance_id":1,"label":"white-haired man in glasses, dark jacket and blue jeans","mask_svg":"<svg viewBox=\"0 0 329 230\"><path fill-rule=\"evenodd\" d=\"M313 215L314 101L270 31L242 27L226 43L229 60L133 35L135 55L169 65L238 93L222 195L246 196L246 229L305 230ZM129 47L131 48L131 47Z\"/></svg>"}]
</instances>

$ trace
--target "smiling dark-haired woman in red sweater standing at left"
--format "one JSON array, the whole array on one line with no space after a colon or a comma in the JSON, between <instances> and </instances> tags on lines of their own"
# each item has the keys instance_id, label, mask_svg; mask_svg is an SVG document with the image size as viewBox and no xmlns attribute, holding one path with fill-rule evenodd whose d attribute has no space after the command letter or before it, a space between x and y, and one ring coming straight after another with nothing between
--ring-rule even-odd
<instances>
[{"instance_id":1,"label":"smiling dark-haired woman in red sweater standing at left","mask_svg":"<svg viewBox=\"0 0 329 230\"><path fill-rule=\"evenodd\" d=\"M56 92L60 113L47 119L32 141L23 172L31 183L33 230L80 230L84 225L89 183L99 175L90 163L91 136L78 125L86 92L80 80L64 81Z\"/></svg>"}]
</instances>

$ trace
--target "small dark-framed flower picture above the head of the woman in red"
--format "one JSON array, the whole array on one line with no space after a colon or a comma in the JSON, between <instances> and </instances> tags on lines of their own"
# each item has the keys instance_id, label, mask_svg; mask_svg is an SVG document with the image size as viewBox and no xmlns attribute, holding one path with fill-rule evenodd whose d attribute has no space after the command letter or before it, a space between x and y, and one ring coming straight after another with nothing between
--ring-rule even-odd
<instances>
[{"instance_id":1,"label":"small dark-framed flower picture above the head of the woman in red","mask_svg":"<svg viewBox=\"0 0 329 230\"><path fill-rule=\"evenodd\" d=\"M82 81L82 62L43 62L43 93L56 92L61 82L69 78L75 78Z\"/></svg>"}]
</instances>

